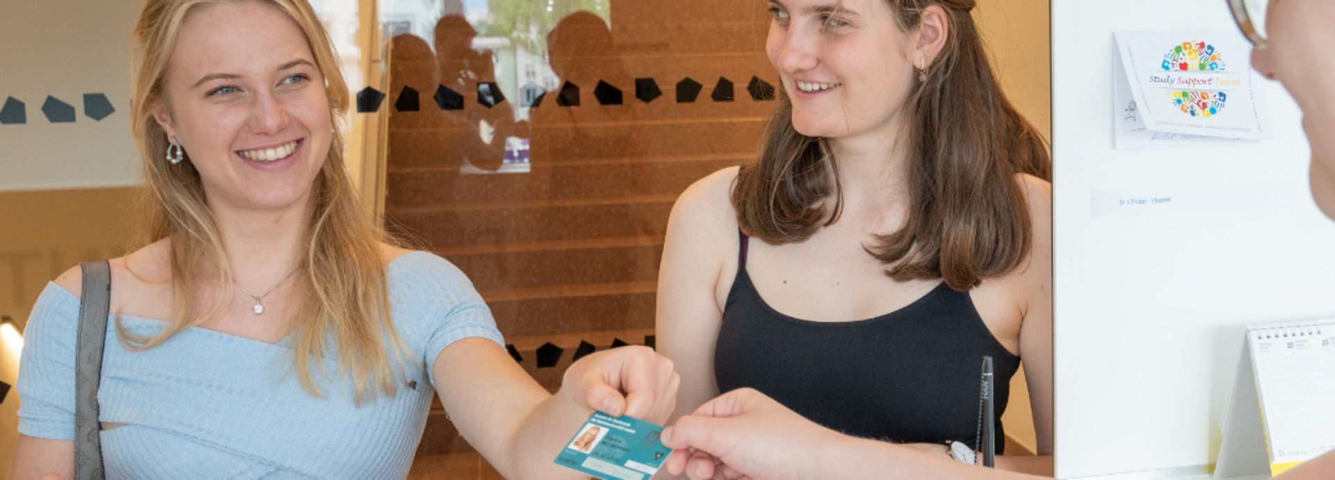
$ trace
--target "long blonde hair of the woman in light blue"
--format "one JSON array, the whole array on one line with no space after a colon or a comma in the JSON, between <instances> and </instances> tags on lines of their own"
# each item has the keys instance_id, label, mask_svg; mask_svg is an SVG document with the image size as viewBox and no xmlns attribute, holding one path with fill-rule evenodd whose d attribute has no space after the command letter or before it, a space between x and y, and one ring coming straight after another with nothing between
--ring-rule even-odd
<instances>
[{"instance_id":1,"label":"long blonde hair of the woman in light blue","mask_svg":"<svg viewBox=\"0 0 1335 480\"><path fill-rule=\"evenodd\" d=\"M239 0L148 0L135 27L134 119L135 143L143 155L147 183L144 207L151 217L147 243L170 239L172 315L158 335L136 336L116 323L121 344L131 351L154 348L171 336L196 327L230 297L231 269L222 237L204 201L199 172L190 161L166 160L167 133L152 116L152 103L162 100L163 79L186 17L208 4ZM342 119L348 108L347 85L328 35L306 0L262 1L287 15L306 36L315 65L327 81L330 115L335 132L328 156L315 177L311 216L306 225L306 275L294 277L296 332L290 345L292 368L302 387L322 396L316 373L327 375L324 361L334 355L342 377L355 387L356 403L379 393L394 396L398 373L407 352L390 316L388 287L380 241L384 231L360 209L343 163ZM218 295L208 313L191 317L190 293L196 272L216 272ZM332 345L330 344L332 339ZM387 345L388 343L388 345ZM394 351L391 351L391 348Z\"/></svg>"}]
</instances>

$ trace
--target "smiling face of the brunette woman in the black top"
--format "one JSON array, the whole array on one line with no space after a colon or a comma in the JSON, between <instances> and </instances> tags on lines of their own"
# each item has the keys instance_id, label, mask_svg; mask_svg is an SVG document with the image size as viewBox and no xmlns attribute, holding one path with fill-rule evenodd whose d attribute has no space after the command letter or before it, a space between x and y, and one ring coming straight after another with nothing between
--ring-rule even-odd
<instances>
[{"instance_id":1,"label":"smiling face of the brunette woman in the black top","mask_svg":"<svg viewBox=\"0 0 1335 480\"><path fill-rule=\"evenodd\" d=\"M914 37L885 0L770 0L765 49L793 103L793 128L841 139L893 128L916 88Z\"/></svg>"}]
</instances>

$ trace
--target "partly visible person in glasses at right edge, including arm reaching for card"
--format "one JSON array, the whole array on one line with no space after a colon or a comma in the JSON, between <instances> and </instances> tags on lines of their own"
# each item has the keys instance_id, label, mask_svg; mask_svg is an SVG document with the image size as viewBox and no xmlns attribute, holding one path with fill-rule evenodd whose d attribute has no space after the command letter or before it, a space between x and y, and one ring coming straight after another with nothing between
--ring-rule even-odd
<instances>
[{"instance_id":1,"label":"partly visible person in glasses at right edge, including arm reaching for card","mask_svg":"<svg viewBox=\"0 0 1335 480\"><path fill-rule=\"evenodd\" d=\"M1279 80L1303 109L1311 141L1311 191L1335 219L1335 55L1310 45L1335 43L1328 0L1228 0L1255 44L1252 67ZM1224 3L1219 3L1224 8ZM1027 357L1028 359L1028 357ZM1028 363L1027 363L1028 364ZM802 419L754 389L729 392L663 431L676 448L665 469L692 479L1035 479L928 457L901 445L840 435ZM1294 467L1276 480L1335 479L1335 452Z\"/></svg>"}]
</instances>

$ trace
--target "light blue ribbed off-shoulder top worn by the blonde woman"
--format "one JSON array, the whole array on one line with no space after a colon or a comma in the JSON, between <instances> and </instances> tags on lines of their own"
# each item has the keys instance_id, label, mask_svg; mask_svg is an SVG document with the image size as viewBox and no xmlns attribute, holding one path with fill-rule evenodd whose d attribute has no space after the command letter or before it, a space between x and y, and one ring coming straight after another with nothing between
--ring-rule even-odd
<instances>
[{"instance_id":1,"label":"light blue ribbed off-shoulder top worn by the blonde woman","mask_svg":"<svg viewBox=\"0 0 1335 480\"><path fill-rule=\"evenodd\" d=\"M413 252L388 265L390 304L411 352L394 397L355 405L344 381L322 381L323 399L290 372L278 344L191 328L159 347L125 351L107 329L99 420L108 479L402 479L413 463L434 395L431 364L449 347L482 337L505 348L491 311L442 257ZM112 317L115 321L115 316ZM163 321L120 316L134 333ZM79 299L55 284L25 328L19 368L19 432L75 436L75 339ZM328 371L336 364L330 359ZM415 388L407 385L415 381Z\"/></svg>"}]
</instances>

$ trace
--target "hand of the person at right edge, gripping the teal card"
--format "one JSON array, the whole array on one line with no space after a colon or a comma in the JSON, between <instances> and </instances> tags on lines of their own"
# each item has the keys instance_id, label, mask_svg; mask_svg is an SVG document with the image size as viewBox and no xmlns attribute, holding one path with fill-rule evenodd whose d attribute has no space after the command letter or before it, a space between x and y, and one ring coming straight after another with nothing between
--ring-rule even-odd
<instances>
[{"instance_id":1,"label":"hand of the person at right edge, gripping the teal card","mask_svg":"<svg viewBox=\"0 0 1335 480\"><path fill-rule=\"evenodd\" d=\"M820 479L821 452L842 436L754 389L728 392L663 431L668 471L704 479Z\"/></svg>"}]
</instances>

